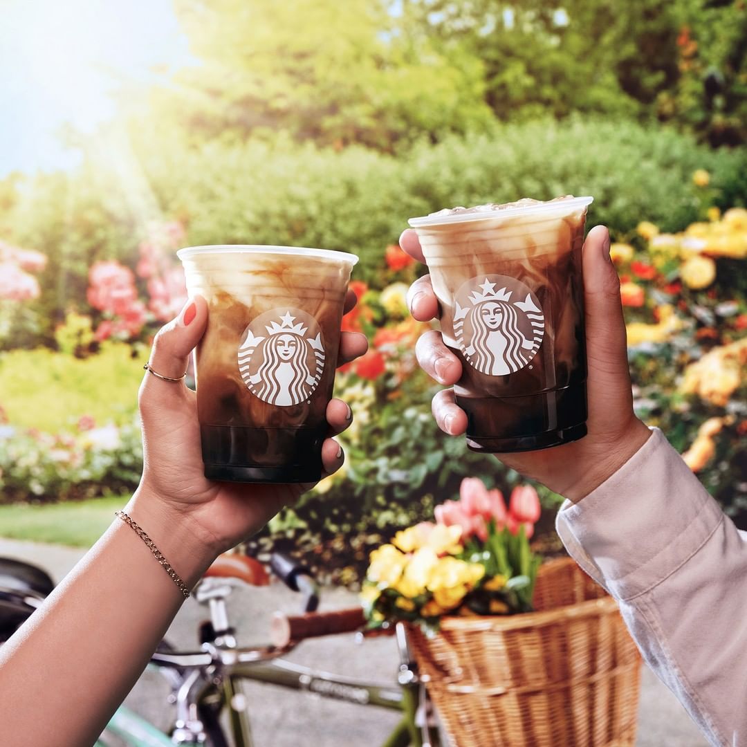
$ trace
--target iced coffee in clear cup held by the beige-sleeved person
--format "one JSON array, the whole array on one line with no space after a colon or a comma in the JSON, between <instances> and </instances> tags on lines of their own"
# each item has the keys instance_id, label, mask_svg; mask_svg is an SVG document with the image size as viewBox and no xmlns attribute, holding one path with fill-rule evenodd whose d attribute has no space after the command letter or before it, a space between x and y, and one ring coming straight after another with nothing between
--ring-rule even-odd
<instances>
[{"instance_id":1,"label":"iced coffee in clear cup held by the beige-sleeved person","mask_svg":"<svg viewBox=\"0 0 747 747\"><path fill-rule=\"evenodd\" d=\"M453 208L413 218L444 342L462 360L456 402L476 451L586 435L583 244L591 197Z\"/></svg>"}]
</instances>

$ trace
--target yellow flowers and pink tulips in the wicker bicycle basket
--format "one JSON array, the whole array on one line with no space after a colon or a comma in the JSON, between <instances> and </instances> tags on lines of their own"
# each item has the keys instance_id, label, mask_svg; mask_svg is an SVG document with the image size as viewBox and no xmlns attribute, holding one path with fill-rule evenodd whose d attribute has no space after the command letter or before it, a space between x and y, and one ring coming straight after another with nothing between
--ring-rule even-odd
<instances>
[{"instance_id":1,"label":"yellow flowers and pink tulips in the wicker bicycle basket","mask_svg":"<svg viewBox=\"0 0 747 747\"><path fill-rule=\"evenodd\" d=\"M540 558L529 539L539 497L519 486L509 498L465 478L459 500L436 506L436 522L397 532L371 553L362 602L371 627L403 620L438 629L444 615L530 612Z\"/></svg>"}]
</instances>

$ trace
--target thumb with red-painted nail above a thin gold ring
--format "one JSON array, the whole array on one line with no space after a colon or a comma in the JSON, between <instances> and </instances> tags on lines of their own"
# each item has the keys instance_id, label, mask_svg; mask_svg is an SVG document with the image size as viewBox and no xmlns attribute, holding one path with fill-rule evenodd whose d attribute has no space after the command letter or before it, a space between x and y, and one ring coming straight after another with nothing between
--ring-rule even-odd
<instances>
[{"instance_id":1,"label":"thumb with red-painted nail above a thin gold ring","mask_svg":"<svg viewBox=\"0 0 747 747\"><path fill-rule=\"evenodd\" d=\"M148 365L161 376L178 379L187 371L187 359L193 347L205 332L208 322L208 304L201 296L190 298L176 319L172 319L158 330L153 340ZM164 382L150 373L146 382L155 379L159 384L175 386L176 382ZM149 382L149 383L155 383Z\"/></svg>"}]
</instances>

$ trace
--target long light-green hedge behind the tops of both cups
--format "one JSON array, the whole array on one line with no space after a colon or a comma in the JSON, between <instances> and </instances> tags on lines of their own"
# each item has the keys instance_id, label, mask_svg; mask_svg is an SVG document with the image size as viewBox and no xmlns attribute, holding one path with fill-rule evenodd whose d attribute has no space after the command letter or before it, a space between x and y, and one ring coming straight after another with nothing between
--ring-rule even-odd
<instances>
[{"instance_id":1,"label":"long light-green hedge behind the tops of both cups","mask_svg":"<svg viewBox=\"0 0 747 747\"><path fill-rule=\"evenodd\" d=\"M86 309L87 268L117 257L134 266L146 223L177 217L191 244L294 244L345 249L376 284L382 252L406 219L444 207L521 196L592 194L591 223L616 234L640 220L681 229L701 201L692 172L712 175L722 207L747 199L747 150L713 151L661 127L624 121L540 120L491 134L420 143L399 155L362 147L215 140L189 145L176 134L131 134L89 154L69 179L19 180L0 214L0 237L50 257L42 299L32 307L51 341L63 309ZM19 344L26 344L22 337ZM38 338L37 338L38 339Z\"/></svg>"}]
</instances>

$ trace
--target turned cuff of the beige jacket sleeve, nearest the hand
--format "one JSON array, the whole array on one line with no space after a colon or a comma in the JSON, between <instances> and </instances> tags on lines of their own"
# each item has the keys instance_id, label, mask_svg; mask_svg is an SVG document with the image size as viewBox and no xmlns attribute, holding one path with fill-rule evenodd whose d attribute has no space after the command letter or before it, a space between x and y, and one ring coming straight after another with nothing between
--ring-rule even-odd
<instances>
[{"instance_id":1,"label":"turned cuff of the beige jacket sleeve, nearest the hand","mask_svg":"<svg viewBox=\"0 0 747 747\"><path fill-rule=\"evenodd\" d=\"M718 503L657 428L612 477L556 526L568 553L619 600L647 592L692 557L721 524Z\"/></svg>"}]
</instances>

